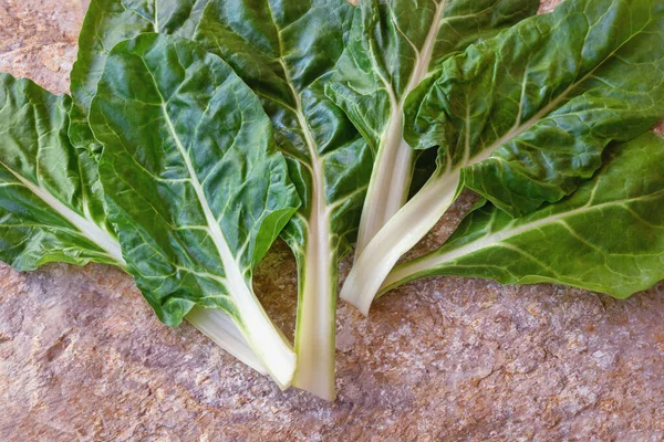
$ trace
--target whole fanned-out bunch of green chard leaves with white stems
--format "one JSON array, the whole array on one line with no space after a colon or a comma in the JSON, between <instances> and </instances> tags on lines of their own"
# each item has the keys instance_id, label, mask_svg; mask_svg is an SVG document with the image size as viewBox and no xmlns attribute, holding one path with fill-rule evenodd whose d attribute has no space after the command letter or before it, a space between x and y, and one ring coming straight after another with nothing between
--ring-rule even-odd
<instances>
[{"instance_id":1,"label":"whole fanned-out bunch of green chard leaves with white stems","mask_svg":"<svg viewBox=\"0 0 664 442\"><path fill-rule=\"evenodd\" d=\"M117 265L281 387L334 399L341 297L466 275L664 278L664 3L93 0L71 97L0 74L0 259ZM463 189L438 250L397 264ZM252 273L298 263L294 345ZM395 266L395 264L397 264Z\"/></svg>"}]
</instances>

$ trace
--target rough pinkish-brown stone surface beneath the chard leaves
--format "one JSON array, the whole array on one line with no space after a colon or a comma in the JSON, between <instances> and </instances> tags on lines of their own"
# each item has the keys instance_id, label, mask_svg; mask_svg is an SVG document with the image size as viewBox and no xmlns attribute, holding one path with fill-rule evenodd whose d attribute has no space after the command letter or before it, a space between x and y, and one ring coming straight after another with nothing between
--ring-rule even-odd
<instances>
[{"instance_id":1,"label":"rough pinkish-brown stone surface beneath the chard leaves","mask_svg":"<svg viewBox=\"0 0 664 442\"><path fill-rule=\"evenodd\" d=\"M2 0L0 71L64 92L84 7ZM274 249L256 286L291 330L295 266ZM339 400L325 403L279 391L188 325L163 326L118 270L0 264L0 440L662 440L663 291L614 301L432 278L369 319L342 303Z\"/></svg>"}]
</instances>

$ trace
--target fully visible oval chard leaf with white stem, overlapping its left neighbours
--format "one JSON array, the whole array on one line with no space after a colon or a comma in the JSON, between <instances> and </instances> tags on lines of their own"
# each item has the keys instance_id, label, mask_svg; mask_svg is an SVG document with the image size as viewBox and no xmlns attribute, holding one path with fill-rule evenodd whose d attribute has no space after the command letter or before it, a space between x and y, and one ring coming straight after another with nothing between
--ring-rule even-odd
<instances>
[{"instance_id":1,"label":"fully visible oval chard leaf with white stem, overlapping its left neighbours","mask_svg":"<svg viewBox=\"0 0 664 442\"><path fill-rule=\"evenodd\" d=\"M127 272L159 318L225 312L288 386L295 357L251 275L299 199L256 95L194 42L142 34L108 54L90 122Z\"/></svg>"}]
</instances>

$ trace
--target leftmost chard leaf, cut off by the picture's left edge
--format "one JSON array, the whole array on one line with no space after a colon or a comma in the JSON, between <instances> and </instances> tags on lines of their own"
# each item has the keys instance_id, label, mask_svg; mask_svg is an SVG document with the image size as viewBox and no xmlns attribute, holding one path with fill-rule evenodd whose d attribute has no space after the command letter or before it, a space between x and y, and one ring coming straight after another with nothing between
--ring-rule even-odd
<instances>
[{"instance_id":1,"label":"leftmost chard leaf, cut off by the picture's left edge","mask_svg":"<svg viewBox=\"0 0 664 442\"><path fill-rule=\"evenodd\" d=\"M0 259L123 265L96 165L66 136L71 99L0 74Z\"/></svg>"}]
</instances>

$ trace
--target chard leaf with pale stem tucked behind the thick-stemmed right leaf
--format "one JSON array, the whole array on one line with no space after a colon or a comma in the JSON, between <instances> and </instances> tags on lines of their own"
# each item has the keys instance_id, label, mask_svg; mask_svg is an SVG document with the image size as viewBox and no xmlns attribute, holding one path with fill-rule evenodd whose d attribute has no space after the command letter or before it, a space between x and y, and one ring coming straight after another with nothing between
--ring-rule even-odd
<instances>
[{"instance_id":1,"label":"chard leaf with pale stem tucked behind the thick-stemmed right leaf","mask_svg":"<svg viewBox=\"0 0 664 442\"><path fill-rule=\"evenodd\" d=\"M539 0L361 0L328 94L374 150L355 256L405 203L414 151L403 138L409 93L470 43L537 12Z\"/></svg>"}]
</instances>

